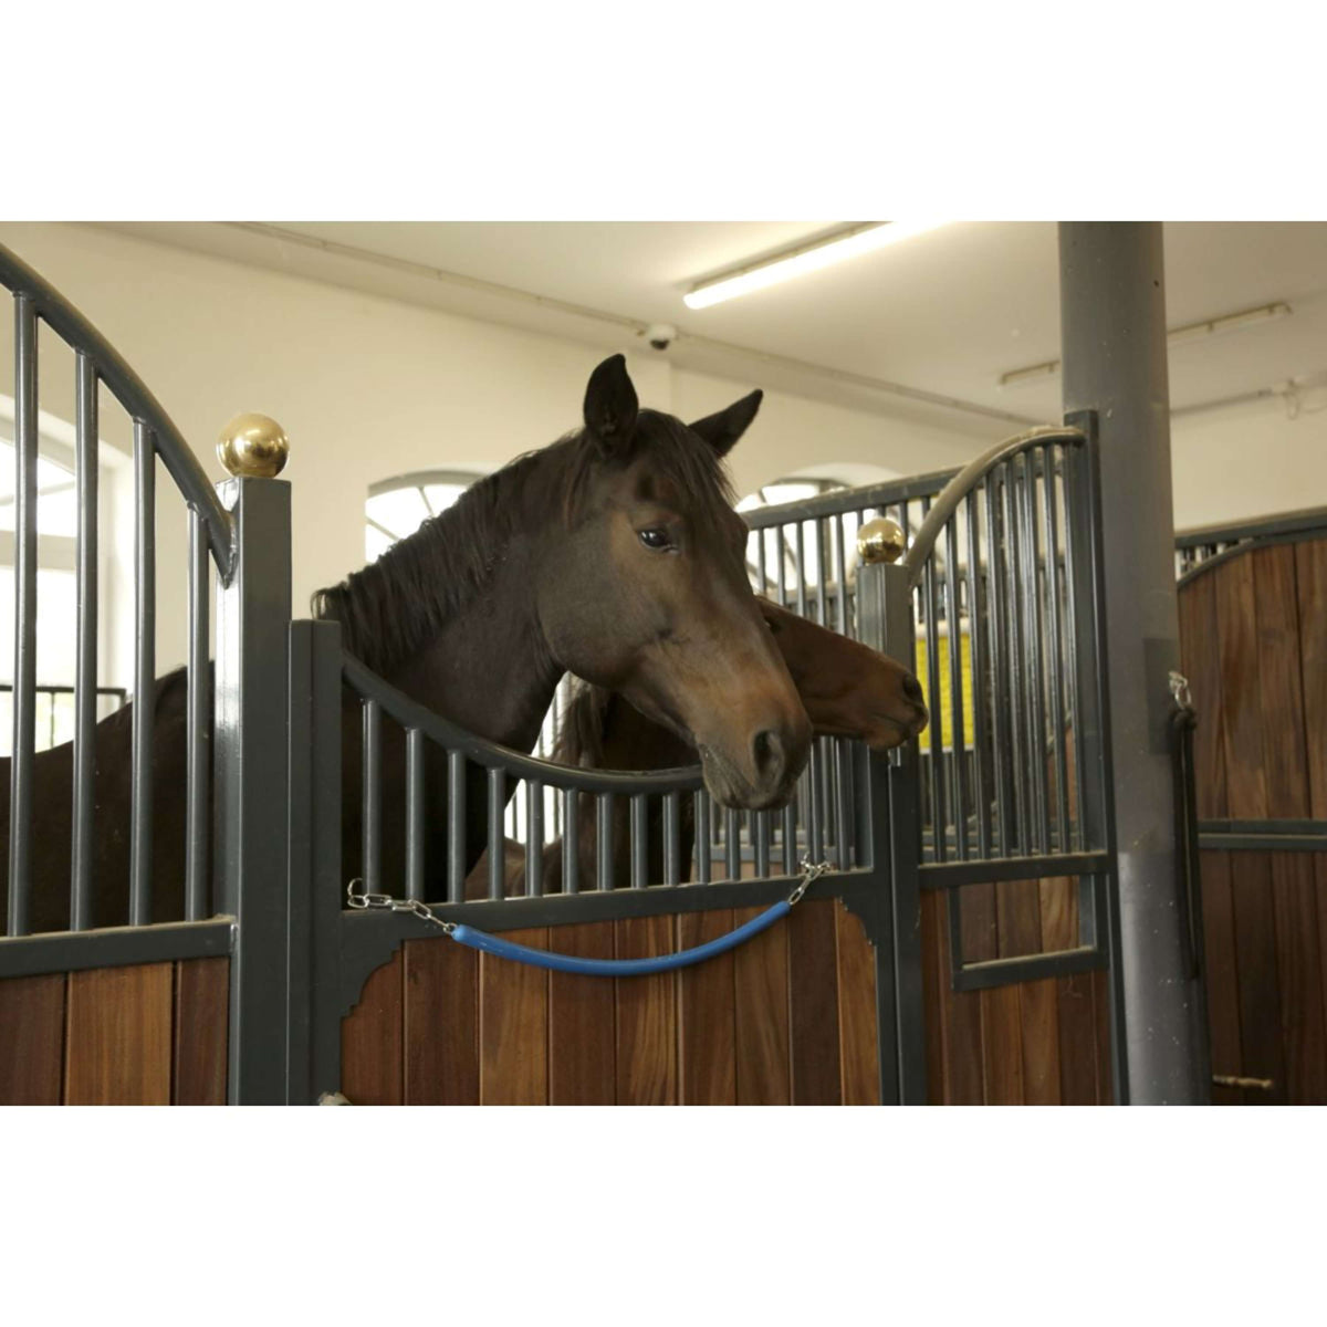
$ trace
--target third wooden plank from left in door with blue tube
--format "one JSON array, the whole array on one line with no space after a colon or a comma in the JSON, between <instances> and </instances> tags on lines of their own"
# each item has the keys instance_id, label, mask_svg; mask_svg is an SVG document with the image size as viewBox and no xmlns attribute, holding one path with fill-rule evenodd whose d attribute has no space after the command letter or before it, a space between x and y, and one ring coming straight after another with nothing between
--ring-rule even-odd
<instances>
[{"instance_id":1,"label":"third wooden plank from left in door with blue tube","mask_svg":"<svg viewBox=\"0 0 1327 1327\"><path fill-rule=\"evenodd\" d=\"M548 947L548 928L504 932L529 949ZM479 955L479 1100L484 1105L548 1104L548 973Z\"/></svg>"}]
</instances>

